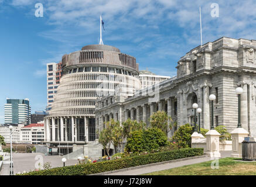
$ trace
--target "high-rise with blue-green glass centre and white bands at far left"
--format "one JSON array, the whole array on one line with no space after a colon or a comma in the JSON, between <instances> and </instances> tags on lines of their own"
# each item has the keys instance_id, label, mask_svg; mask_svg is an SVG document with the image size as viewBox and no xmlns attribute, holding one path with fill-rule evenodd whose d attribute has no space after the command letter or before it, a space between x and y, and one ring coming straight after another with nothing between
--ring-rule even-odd
<instances>
[{"instance_id":1,"label":"high-rise with blue-green glass centre and white bands at far left","mask_svg":"<svg viewBox=\"0 0 256 187\"><path fill-rule=\"evenodd\" d=\"M6 99L5 124L31 123L29 99Z\"/></svg>"}]
</instances>

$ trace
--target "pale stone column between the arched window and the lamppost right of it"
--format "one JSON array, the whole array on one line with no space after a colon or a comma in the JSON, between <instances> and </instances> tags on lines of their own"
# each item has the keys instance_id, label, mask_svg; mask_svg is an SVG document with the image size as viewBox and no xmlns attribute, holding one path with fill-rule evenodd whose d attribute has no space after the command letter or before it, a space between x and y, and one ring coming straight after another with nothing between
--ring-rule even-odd
<instances>
[{"instance_id":1,"label":"pale stone column between the arched window and the lamppost right of it","mask_svg":"<svg viewBox=\"0 0 256 187\"><path fill-rule=\"evenodd\" d=\"M203 87L203 123L202 128L210 130L209 86Z\"/></svg>"}]
</instances>

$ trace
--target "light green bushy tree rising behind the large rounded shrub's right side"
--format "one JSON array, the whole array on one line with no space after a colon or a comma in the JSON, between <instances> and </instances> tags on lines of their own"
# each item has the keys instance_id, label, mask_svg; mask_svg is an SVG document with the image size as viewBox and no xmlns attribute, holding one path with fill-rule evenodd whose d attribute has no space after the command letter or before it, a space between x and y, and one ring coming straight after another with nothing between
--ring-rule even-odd
<instances>
[{"instance_id":1,"label":"light green bushy tree rising behind the large rounded shrub's right side","mask_svg":"<svg viewBox=\"0 0 256 187\"><path fill-rule=\"evenodd\" d=\"M166 134L166 136L173 127L172 118L168 116L167 113L164 111L154 112L150 116L149 122L151 124L151 127L161 129Z\"/></svg>"}]
</instances>

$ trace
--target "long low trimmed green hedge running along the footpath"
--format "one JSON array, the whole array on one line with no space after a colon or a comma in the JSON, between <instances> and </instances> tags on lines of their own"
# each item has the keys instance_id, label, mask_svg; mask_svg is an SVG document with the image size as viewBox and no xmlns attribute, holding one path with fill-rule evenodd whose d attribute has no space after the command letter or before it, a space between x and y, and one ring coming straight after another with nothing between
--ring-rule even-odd
<instances>
[{"instance_id":1,"label":"long low trimmed green hedge running along the footpath","mask_svg":"<svg viewBox=\"0 0 256 187\"><path fill-rule=\"evenodd\" d=\"M32 171L22 175L90 175L100 172L113 171L116 169L135 167L138 165L152 164L155 162L194 157L198 155L203 155L203 148L181 148L179 150L136 155L117 160Z\"/></svg>"}]
</instances>

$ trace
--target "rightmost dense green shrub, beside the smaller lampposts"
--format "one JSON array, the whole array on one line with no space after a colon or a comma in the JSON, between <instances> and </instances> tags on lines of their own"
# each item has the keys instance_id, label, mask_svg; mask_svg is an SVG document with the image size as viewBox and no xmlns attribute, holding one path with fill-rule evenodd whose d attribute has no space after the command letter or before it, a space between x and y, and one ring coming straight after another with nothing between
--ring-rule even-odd
<instances>
[{"instance_id":1,"label":"rightmost dense green shrub, beside the smaller lampposts","mask_svg":"<svg viewBox=\"0 0 256 187\"><path fill-rule=\"evenodd\" d=\"M191 147L191 134L192 126L190 124L184 124L180 126L177 131L175 131L172 141L178 144L179 148Z\"/></svg>"}]
</instances>

